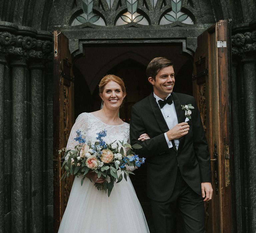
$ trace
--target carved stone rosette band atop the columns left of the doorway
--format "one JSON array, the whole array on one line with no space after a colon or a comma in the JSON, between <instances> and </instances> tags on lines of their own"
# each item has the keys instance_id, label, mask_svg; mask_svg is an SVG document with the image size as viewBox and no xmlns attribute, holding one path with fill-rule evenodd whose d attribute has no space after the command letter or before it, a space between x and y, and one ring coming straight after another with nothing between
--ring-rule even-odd
<instances>
[{"instance_id":1,"label":"carved stone rosette band atop the columns left of the doorway","mask_svg":"<svg viewBox=\"0 0 256 233\"><path fill-rule=\"evenodd\" d=\"M37 40L31 36L0 32L0 55L8 57L49 60L52 57L53 44L50 40Z\"/></svg>"}]
</instances>

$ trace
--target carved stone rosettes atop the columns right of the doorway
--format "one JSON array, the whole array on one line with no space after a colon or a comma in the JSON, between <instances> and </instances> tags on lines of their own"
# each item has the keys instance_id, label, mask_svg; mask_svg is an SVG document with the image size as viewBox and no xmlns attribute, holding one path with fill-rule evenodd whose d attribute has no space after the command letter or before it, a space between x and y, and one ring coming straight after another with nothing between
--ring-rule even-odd
<instances>
[{"instance_id":1,"label":"carved stone rosettes atop the columns right of the doorway","mask_svg":"<svg viewBox=\"0 0 256 233\"><path fill-rule=\"evenodd\" d=\"M256 55L256 30L232 36L232 55L243 57L246 54Z\"/></svg>"}]
</instances>

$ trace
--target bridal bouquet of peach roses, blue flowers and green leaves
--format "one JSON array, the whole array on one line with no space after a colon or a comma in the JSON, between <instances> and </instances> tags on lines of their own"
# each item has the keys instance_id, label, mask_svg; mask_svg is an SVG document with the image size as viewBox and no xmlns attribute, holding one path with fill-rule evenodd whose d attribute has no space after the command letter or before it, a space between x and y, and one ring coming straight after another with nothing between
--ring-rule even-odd
<instances>
[{"instance_id":1,"label":"bridal bouquet of peach roses, blue flowers and green leaves","mask_svg":"<svg viewBox=\"0 0 256 233\"><path fill-rule=\"evenodd\" d=\"M69 175L81 175L83 176L81 185L83 185L85 175L89 171L94 171L98 174L98 178L101 176L105 178L104 183L95 183L94 185L98 190L108 192L108 196L110 196L115 182L120 182L123 177L127 181L127 176L133 174L129 167L140 167L145 161L145 158L139 158L132 151L133 148L141 148L141 145L131 146L121 141L107 144L103 140L103 137L107 135L106 130L97 133L97 141L94 143L85 140L85 133L82 130L77 130L76 133L77 136L74 139L79 144L74 149L62 148L59 150L59 154L65 151L62 157L64 159L62 168L64 167L65 172L61 179L65 179Z\"/></svg>"}]
</instances>

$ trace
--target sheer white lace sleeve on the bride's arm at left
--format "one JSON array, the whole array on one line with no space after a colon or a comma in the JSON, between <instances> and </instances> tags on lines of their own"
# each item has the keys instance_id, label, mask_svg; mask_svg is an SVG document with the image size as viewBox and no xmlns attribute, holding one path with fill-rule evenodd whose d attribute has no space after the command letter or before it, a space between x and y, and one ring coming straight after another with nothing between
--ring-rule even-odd
<instances>
[{"instance_id":1,"label":"sheer white lace sleeve on the bride's arm at left","mask_svg":"<svg viewBox=\"0 0 256 233\"><path fill-rule=\"evenodd\" d=\"M78 129L82 129L82 130L86 129L86 121L87 121L86 119L87 119L87 113L82 113L76 118L76 122L74 123L68 138L66 150L73 149L78 144L78 142L74 140L74 138L76 137L76 131Z\"/></svg>"}]
</instances>

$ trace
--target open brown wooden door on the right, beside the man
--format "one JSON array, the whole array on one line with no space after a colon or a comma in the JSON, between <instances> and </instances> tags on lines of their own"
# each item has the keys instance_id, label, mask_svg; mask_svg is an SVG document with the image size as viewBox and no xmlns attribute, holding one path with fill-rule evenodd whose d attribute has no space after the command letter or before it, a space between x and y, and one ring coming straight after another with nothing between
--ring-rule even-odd
<instances>
[{"instance_id":1,"label":"open brown wooden door on the right, beside the man","mask_svg":"<svg viewBox=\"0 0 256 233\"><path fill-rule=\"evenodd\" d=\"M229 140L229 22L221 20L197 38L193 93L211 156L213 198L205 203L206 232L232 232Z\"/></svg>"}]
</instances>

